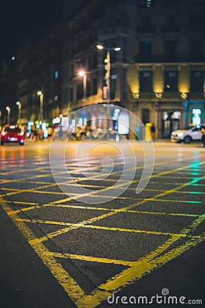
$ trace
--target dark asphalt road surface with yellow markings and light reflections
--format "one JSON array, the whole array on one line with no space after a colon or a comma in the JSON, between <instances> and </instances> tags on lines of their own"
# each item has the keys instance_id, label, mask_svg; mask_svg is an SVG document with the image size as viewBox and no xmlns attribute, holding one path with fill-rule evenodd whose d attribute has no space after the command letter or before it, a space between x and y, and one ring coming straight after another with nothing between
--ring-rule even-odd
<instances>
[{"instance_id":1,"label":"dark asphalt road surface with yellow markings and light reflections","mask_svg":"<svg viewBox=\"0 0 205 308\"><path fill-rule=\"evenodd\" d=\"M0 149L0 307L203 307L202 144L52 144Z\"/></svg>"}]
</instances>

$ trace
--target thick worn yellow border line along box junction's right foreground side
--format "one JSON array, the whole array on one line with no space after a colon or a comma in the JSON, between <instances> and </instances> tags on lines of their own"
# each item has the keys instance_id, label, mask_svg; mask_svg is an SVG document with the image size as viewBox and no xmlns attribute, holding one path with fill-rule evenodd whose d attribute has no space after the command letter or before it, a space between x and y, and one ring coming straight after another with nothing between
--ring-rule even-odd
<instances>
[{"instance_id":1,"label":"thick worn yellow border line along box junction's right foreground side","mask_svg":"<svg viewBox=\"0 0 205 308\"><path fill-rule=\"evenodd\" d=\"M180 231L180 233L185 233L189 235L191 231L193 231L198 225L200 225L205 219L205 214L194 220L189 227L184 228ZM191 240L187 241L185 244L178 246L177 248L172 249L161 255L164 251L167 250L172 244L178 241L179 238L173 236L169 238L164 244L156 248L155 251L152 251L146 257L142 257L138 261L136 261L135 266L131 266L120 274L115 275L115 277L111 277L107 283L102 283L99 285L96 290L92 292L90 295L85 295L83 298L79 298L76 305L78 308L94 308L100 303L102 300L106 300L112 293L117 293L122 290L122 288L134 283L135 281L141 279L145 274L149 274L155 268L161 267L163 264L166 264L168 261L171 261L175 257L178 257L185 251L189 250L189 248L196 246L200 242L205 240L205 233L202 235L194 235ZM161 255L161 256L160 256Z\"/></svg>"}]
</instances>

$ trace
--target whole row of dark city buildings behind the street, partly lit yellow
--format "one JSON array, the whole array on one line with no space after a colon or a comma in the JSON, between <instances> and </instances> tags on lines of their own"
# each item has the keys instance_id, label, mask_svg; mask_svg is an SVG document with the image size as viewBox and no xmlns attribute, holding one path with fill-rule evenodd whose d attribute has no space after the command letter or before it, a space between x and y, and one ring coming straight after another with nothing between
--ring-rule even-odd
<instances>
[{"instance_id":1,"label":"whole row of dark city buildings behind the street, partly lit yellow","mask_svg":"<svg viewBox=\"0 0 205 308\"><path fill-rule=\"evenodd\" d=\"M16 57L17 79L9 82L23 118L39 119L42 90L49 123L88 105L96 105L90 118L103 118L107 104L153 123L159 139L205 123L204 13L204 0L65 1L61 23L36 48L23 48L24 60Z\"/></svg>"}]
</instances>

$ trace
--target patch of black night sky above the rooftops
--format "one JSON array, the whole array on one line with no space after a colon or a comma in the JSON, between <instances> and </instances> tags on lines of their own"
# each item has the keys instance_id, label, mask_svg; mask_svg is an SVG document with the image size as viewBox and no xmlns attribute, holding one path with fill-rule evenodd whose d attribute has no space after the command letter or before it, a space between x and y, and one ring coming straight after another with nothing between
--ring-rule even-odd
<instances>
[{"instance_id":1,"label":"patch of black night sky above the rooftops","mask_svg":"<svg viewBox=\"0 0 205 308\"><path fill-rule=\"evenodd\" d=\"M32 41L57 25L64 0L3 1L0 5L0 60L9 60L27 40Z\"/></svg>"}]
</instances>

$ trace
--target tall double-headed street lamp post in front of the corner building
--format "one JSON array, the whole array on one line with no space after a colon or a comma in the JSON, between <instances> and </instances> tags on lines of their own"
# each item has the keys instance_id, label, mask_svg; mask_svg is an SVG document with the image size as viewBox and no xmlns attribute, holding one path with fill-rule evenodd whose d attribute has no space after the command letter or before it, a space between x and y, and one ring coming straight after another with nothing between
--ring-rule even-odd
<instances>
[{"instance_id":1,"label":"tall double-headed street lamp post in front of the corner building","mask_svg":"<svg viewBox=\"0 0 205 308\"><path fill-rule=\"evenodd\" d=\"M109 112L109 103L110 103L110 99L111 99L111 88L110 88L110 72L111 72L111 61L110 61L110 51L120 51L121 48L120 47L111 47L111 48L107 48L105 46L102 46L100 44L96 45L97 49L105 49L107 51L107 55L106 55L106 59L105 59L105 83L106 83L106 87L107 87L107 138L109 138L109 118L110 118L110 112Z\"/></svg>"}]
</instances>

